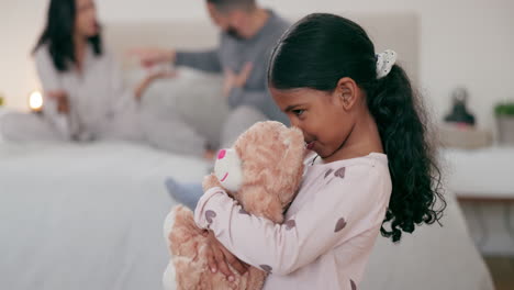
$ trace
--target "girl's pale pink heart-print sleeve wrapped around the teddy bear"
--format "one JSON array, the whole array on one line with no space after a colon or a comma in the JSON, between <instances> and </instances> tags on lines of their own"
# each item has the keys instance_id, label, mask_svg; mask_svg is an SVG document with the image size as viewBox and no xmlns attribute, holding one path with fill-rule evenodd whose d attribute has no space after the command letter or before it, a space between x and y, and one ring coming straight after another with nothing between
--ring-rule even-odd
<instances>
[{"instance_id":1,"label":"girl's pale pink heart-print sleeve wrapped around the teddy bear","mask_svg":"<svg viewBox=\"0 0 514 290\"><path fill-rule=\"evenodd\" d=\"M221 188L200 199L194 221L243 261L288 275L335 246L377 227L389 201L388 175L371 166L342 167L320 177L320 187L282 224L242 211Z\"/></svg>"}]
</instances>

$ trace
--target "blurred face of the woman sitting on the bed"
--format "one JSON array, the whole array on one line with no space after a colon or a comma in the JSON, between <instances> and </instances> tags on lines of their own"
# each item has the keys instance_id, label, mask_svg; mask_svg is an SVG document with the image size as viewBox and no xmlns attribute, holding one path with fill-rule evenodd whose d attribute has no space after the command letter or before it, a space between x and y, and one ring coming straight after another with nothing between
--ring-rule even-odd
<instances>
[{"instance_id":1,"label":"blurred face of the woman sitting on the bed","mask_svg":"<svg viewBox=\"0 0 514 290\"><path fill-rule=\"evenodd\" d=\"M75 34L92 37L99 33L97 9L93 0L76 0Z\"/></svg>"}]
</instances>

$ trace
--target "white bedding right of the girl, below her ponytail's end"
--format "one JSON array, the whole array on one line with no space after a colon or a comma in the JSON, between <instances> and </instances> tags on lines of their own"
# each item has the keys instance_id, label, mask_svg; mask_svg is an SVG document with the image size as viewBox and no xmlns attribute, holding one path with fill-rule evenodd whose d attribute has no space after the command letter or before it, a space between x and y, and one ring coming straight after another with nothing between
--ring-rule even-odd
<instances>
[{"instance_id":1,"label":"white bedding right of the girl, below her ponytail's end","mask_svg":"<svg viewBox=\"0 0 514 290\"><path fill-rule=\"evenodd\" d=\"M379 236L360 289L494 289L455 197L448 193L446 200L443 226L423 225L399 244Z\"/></svg>"}]
</instances>

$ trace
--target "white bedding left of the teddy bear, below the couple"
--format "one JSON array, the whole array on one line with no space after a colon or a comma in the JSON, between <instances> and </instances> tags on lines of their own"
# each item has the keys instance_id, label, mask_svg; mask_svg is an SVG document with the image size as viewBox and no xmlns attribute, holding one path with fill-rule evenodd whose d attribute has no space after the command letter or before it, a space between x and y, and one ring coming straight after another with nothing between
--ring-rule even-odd
<instances>
[{"instance_id":1,"label":"white bedding left of the teddy bear, below the couple","mask_svg":"<svg viewBox=\"0 0 514 290\"><path fill-rule=\"evenodd\" d=\"M0 145L0 289L161 289L164 179L205 170L121 143Z\"/></svg>"}]
</instances>

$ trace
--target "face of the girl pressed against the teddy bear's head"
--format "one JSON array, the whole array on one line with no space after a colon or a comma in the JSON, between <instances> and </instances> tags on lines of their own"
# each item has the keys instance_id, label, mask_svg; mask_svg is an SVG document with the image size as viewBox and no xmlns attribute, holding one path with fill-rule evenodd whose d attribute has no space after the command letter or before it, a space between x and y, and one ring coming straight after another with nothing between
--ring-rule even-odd
<instances>
[{"instance_id":1,"label":"face of the girl pressed against the teddy bear's head","mask_svg":"<svg viewBox=\"0 0 514 290\"><path fill-rule=\"evenodd\" d=\"M275 102L303 132L309 149L325 161L334 156L351 133L355 118L345 110L342 94L309 88L278 90L270 88Z\"/></svg>"}]
</instances>

